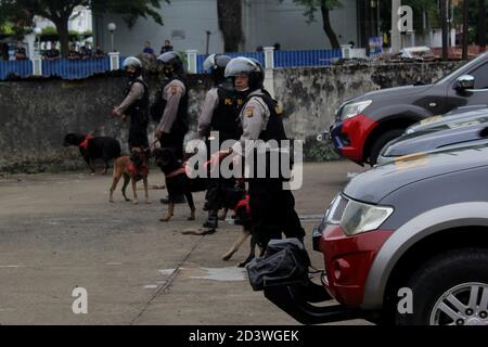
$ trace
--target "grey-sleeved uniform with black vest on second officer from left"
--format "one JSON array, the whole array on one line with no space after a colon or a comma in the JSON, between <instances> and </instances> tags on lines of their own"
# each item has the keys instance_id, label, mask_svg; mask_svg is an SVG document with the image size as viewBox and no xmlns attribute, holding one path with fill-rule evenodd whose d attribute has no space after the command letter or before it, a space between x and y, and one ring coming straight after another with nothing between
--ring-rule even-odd
<instances>
[{"instance_id":1,"label":"grey-sleeved uniform with black vest on second officer from left","mask_svg":"<svg viewBox=\"0 0 488 347\"><path fill-rule=\"evenodd\" d=\"M183 78L174 76L163 86L163 116L156 131L162 132L162 147L174 149L183 158L184 136L189 130L188 87Z\"/></svg>"}]
</instances>

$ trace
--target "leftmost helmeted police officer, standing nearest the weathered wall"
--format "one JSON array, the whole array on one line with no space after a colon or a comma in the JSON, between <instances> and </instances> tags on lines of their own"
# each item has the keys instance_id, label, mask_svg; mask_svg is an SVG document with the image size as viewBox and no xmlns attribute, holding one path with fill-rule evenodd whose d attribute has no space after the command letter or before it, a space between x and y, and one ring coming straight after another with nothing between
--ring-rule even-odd
<instances>
[{"instance_id":1,"label":"leftmost helmeted police officer, standing nearest the weathered wall","mask_svg":"<svg viewBox=\"0 0 488 347\"><path fill-rule=\"evenodd\" d=\"M147 140L149 126L149 86L142 77L142 63L134 56L124 61L124 69L129 76L129 85L125 90L125 100L112 111L125 121L130 118L129 150L141 147L150 152ZM147 156L149 157L149 156Z\"/></svg>"}]
</instances>

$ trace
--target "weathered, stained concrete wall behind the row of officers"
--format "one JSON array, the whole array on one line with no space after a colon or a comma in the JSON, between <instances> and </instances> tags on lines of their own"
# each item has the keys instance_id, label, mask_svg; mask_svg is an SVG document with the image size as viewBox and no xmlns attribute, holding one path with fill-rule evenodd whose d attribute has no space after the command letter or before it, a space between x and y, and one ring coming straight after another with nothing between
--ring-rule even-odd
<instances>
[{"instance_id":1,"label":"weathered, stained concrete wall behind the row of officers","mask_svg":"<svg viewBox=\"0 0 488 347\"><path fill-rule=\"evenodd\" d=\"M345 100L378 88L409 85L420 78L429 82L454 66L402 64L277 69L274 93L287 112L288 137L313 144L312 139L333 123L334 111ZM152 77L149 81L154 93L158 80ZM112 107L123 99L125 82L120 76L69 82L0 82L0 172L80 167L84 163L78 150L62 146L64 136L88 133L100 126L104 128L98 134L115 137L126 147L128 125L108 117ZM193 75L190 83L193 86L190 94L193 132L188 139L194 137L196 117L209 80L206 76ZM310 147L310 153L316 150Z\"/></svg>"}]
</instances>

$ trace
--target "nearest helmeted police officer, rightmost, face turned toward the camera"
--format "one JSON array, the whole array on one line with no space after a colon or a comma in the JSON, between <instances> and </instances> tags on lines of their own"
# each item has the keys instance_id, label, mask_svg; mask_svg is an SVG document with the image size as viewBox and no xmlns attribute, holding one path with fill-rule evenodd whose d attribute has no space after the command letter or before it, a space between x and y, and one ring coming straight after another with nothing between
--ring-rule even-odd
<instances>
[{"instance_id":1,"label":"nearest helmeted police officer, rightmost, face turned toward the camera","mask_svg":"<svg viewBox=\"0 0 488 347\"><path fill-rule=\"evenodd\" d=\"M246 145L255 149L255 144L252 143L257 140L268 144L274 142L271 140L275 140L278 145L280 145L280 141L286 140L282 112L264 88L265 72L259 62L246 57L233 59L227 65L224 76L232 77L236 88L248 88L249 90L240 114L243 134L240 142L235 143L228 154L235 153L244 156L249 152ZM270 165L280 165L270 159L270 151L272 150L264 151L267 165L266 175L260 178L260 176L256 176L255 170L252 172L254 176L247 179L253 233L261 248L266 248L270 240L281 239L282 233L286 237L297 237L301 241L305 236L305 230L295 211L295 198L290 190L283 189L285 178L281 175L279 178L273 178L269 172ZM256 154L259 150L251 152ZM249 158L244 157L244 159ZM255 162L257 171L259 171L261 163L259 159Z\"/></svg>"}]
</instances>

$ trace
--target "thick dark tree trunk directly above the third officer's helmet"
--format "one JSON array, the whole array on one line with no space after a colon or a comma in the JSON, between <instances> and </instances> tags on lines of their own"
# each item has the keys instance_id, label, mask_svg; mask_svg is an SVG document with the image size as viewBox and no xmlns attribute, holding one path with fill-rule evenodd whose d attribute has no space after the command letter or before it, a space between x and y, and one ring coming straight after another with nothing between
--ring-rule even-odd
<instances>
[{"instance_id":1,"label":"thick dark tree trunk directly above the third officer's helmet","mask_svg":"<svg viewBox=\"0 0 488 347\"><path fill-rule=\"evenodd\" d=\"M217 0L219 29L223 37L223 50L237 52L243 41L241 0Z\"/></svg>"}]
</instances>

